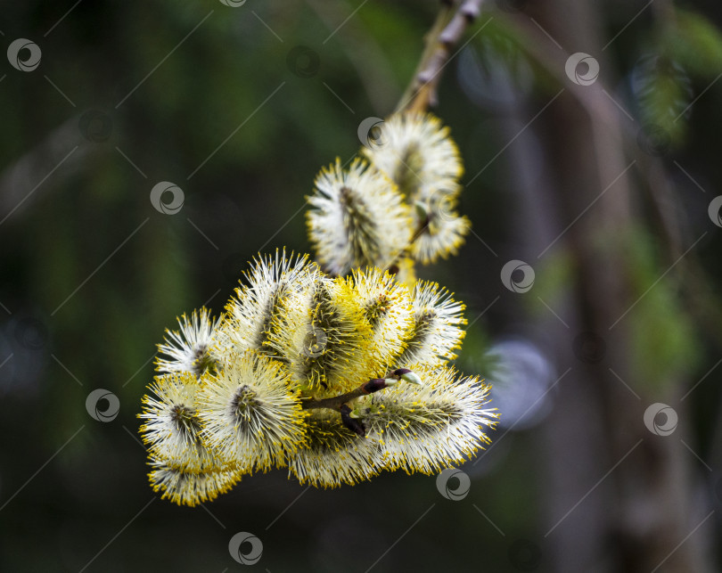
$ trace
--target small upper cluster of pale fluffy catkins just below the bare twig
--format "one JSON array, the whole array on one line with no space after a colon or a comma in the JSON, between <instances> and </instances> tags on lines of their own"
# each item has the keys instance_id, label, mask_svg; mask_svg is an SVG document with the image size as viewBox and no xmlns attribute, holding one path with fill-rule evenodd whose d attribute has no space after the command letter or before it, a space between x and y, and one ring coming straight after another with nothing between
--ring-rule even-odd
<instances>
[{"instance_id":1,"label":"small upper cluster of pale fluffy catkins just below the bare twig","mask_svg":"<svg viewBox=\"0 0 722 573\"><path fill-rule=\"evenodd\" d=\"M414 281L414 262L455 254L471 229L456 214L464 168L439 119L404 113L373 127L348 169L340 160L316 177L308 233L332 274L391 268Z\"/></svg>"}]
</instances>

